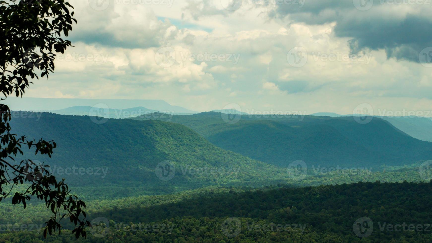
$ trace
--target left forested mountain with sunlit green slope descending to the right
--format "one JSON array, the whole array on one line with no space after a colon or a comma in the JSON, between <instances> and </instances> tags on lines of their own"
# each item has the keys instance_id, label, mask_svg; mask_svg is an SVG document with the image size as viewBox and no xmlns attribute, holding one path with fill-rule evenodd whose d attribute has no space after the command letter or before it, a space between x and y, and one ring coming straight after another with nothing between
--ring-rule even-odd
<instances>
[{"instance_id":1,"label":"left forested mountain with sunlit green slope descending to the right","mask_svg":"<svg viewBox=\"0 0 432 243\"><path fill-rule=\"evenodd\" d=\"M41 113L40 117L14 118L11 125L18 135L54 139L57 148L51 159L40 155L27 157L47 161L54 175L74 178L68 180L73 185L121 183L145 185L149 191L172 192L203 185L268 182L268 177L279 170L216 147L181 124L100 119ZM167 160L168 165L163 162ZM89 167L92 171L84 171ZM164 176L171 173L174 176L159 180L155 170L160 167ZM175 171L170 172L174 167ZM280 173L288 177L286 171Z\"/></svg>"}]
</instances>

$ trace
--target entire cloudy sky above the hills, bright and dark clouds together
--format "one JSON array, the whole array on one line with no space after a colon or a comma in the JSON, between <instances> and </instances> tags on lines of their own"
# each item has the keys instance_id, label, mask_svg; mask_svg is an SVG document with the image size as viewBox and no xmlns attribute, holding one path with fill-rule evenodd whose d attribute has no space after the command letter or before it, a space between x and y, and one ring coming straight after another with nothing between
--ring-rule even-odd
<instances>
[{"instance_id":1,"label":"entire cloudy sky above the hills, bright and dark clouds together","mask_svg":"<svg viewBox=\"0 0 432 243\"><path fill-rule=\"evenodd\" d=\"M432 110L431 0L230 1L71 0L74 47L25 96Z\"/></svg>"}]
</instances>

